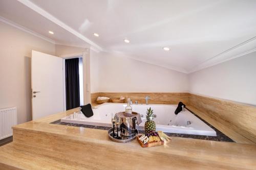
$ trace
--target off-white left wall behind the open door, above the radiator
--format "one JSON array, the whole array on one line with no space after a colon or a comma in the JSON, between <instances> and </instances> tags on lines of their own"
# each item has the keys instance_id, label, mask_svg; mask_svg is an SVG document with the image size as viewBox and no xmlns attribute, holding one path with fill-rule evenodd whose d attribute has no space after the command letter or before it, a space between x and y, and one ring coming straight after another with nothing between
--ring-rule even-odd
<instances>
[{"instance_id":1,"label":"off-white left wall behind the open door, above the radiator","mask_svg":"<svg viewBox=\"0 0 256 170\"><path fill-rule=\"evenodd\" d=\"M31 120L31 50L55 55L55 45L0 21L0 108L17 106Z\"/></svg>"}]
</instances>

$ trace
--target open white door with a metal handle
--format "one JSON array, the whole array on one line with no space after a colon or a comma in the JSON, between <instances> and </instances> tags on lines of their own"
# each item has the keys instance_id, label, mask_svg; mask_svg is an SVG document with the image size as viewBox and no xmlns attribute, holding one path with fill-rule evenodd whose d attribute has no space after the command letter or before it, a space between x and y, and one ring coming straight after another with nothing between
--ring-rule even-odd
<instances>
[{"instance_id":1,"label":"open white door with a metal handle","mask_svg":"<svg viewBox=\"0 0 256 170\"><path fill-rule=\"evenodd\" d=\"M32 119L64 110L62 58L32 50Z\"/></svg>"}]
</instances>

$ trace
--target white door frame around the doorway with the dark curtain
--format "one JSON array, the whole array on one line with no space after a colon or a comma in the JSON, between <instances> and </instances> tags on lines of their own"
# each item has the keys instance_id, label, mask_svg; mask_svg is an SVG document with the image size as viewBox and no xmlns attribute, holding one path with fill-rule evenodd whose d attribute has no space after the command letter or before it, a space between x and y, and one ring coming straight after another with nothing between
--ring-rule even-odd
<instances>
[{"instance_id":1,"label":"white door frame around the doorway with the dark curtain","mask_svg":"<svg viewBox=\"0 0 256 170\"><path fill-rule=\"evenodd\" d=\"M65 60L66 59L72 59L72 58L82 58L82 69L83 69L83 103L85 103L85 91L84 91L84 85L86 83L86 80L84 79L84 66L86 65L86 53L74 53L74 54L67 54L67 55L60 55L61 58L63 58L63 106L64 111L66 111L66 65Z\"/></svg>"}]
</instances>

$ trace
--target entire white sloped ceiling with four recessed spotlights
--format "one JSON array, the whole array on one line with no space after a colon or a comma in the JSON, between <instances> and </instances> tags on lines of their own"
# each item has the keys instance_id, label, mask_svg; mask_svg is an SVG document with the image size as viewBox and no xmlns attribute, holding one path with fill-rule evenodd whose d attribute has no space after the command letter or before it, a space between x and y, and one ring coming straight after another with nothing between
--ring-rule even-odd
<instances>
[{"instance_id":1,"label":"entire white sloped ceiling with four recessed spotlights","mask_svg":"<svg viewBox=\"0 0 256 170\"><path fill-rule=\"evenodd\" d=\"M57 43L91 45L186 73L256 50L256 1L0 2L1 16Z\"/></svg>"}]
</instances>

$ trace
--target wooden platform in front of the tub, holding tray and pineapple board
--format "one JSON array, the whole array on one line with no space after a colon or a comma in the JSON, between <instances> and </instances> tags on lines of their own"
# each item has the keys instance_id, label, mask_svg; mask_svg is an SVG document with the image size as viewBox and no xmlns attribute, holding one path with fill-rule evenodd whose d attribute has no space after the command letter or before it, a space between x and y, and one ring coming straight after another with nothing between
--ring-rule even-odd
<instances>
[{"instance_id":1,"label":"wooden platform in front of the tub, holding tray and pineapple board","mask_svg":"<svg viewBox=\"0 0 256 170\"><path fill-rule=\"evenodd\" d=\"M256 169L256 145L172 137L158 147L111 141L107 132L49 124L74 110L13 127L0 169Z\"/></svg>"}]
</instances>

